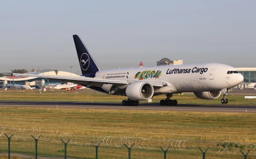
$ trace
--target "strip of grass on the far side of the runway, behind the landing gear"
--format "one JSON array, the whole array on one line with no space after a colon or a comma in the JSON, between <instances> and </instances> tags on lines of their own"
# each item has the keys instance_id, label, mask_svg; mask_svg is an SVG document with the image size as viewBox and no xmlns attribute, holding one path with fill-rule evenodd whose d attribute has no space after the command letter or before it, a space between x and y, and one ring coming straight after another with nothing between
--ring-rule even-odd
<instances>
[{"instance_id":1,"label":"strip of grass on the far side of the runway, behind the landing gear","mask_svg":"<svg viewBox=\"0 0 256 159\"><path fill-rule=\"evenodd\" d=\"M228 95L228 105L255 105L256 99L245 99L244 95ZM164 95L155 96L152 102L159 103ZM216 100L201 100L193 93L184 95L174 94L172 99L176 99L178 104L221 104L222 96ZM113 96L110 94L99 93L96 91L0 91L2 101L71 101L71 102L119 102L127 99L125 96ZM147 101L141 101L147 102Z\"/></svg>"}]
</instances>

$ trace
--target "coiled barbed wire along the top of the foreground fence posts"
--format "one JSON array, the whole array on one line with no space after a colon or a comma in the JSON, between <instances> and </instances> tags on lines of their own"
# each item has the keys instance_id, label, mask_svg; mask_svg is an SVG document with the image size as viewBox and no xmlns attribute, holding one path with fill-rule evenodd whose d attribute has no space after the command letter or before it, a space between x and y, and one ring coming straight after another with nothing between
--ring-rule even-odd
<instances>
[{"instance_id":1,"label":"coiled barbed wire along the top of the foreground fence posts","mask_svg":"<svg viewBox=\"0 0 256 159\"><path fill-rule=\"evenodd\" d=\"M22 128L12 128L12 127L0 127L0 137L5 137L5 135L13 135L15 139L32 139L34 137L40 137L40 140L44 141L60 141L63 140L69 143L81 145L81 146L94 146L94 143L100 143L102 147L113 147L113 148L125 148L124 144L128 147L135 144L133 149L150 149L156 150L160 147L168 148L171 147L175 150L180 151L196 151L199 148L208 149L208 152L212 153L240 153L250 151L250 154L256 156L256 143L243 143L236 141L201 141L194 139L148 139L144 137L113 137L113 136L88 136L88 135L75 135L72 133L56 133L49 132L40 129L22 129Z\"/></svg>"}]
</instances>

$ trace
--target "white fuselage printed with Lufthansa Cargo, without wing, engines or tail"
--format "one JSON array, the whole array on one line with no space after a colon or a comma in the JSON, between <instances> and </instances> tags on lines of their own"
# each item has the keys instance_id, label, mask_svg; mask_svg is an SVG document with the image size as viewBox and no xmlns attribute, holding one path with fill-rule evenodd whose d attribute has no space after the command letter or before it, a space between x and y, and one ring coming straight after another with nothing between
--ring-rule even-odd
<instances>
[{"instance_id":1,"label":"white fuselage printed with Lufthansa Cargo, without wing, engines or tail","mask_svg":"<svg viewBox=\"0 0 256 159\"><path fill-rule=\"evenodd\" d=\"M228 71L236 73L228 74ZM237 69L220 63L199 63L104 70L96 78L162 82L167 84L154 93L208 92L236 87L243 81Z\"/></svg>"}]
</instances>

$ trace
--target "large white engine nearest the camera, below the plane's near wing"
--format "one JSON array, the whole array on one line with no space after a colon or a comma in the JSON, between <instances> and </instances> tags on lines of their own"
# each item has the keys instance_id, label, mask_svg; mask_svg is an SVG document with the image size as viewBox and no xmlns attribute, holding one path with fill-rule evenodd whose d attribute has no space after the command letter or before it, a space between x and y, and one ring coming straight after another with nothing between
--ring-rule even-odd
<instances>
[{"instance_id":1,"label":"large white engine nearest the camera, below the plane's near wing","mask_svg":"<svg viewBox=\"0 0 256 159\"><path fill-rule=\"evenodd\" d=\"M126 87L125 93L130 100L143 101L153 96L154 88L150 83L135 81Z\"/></svg>"}]
</instances>

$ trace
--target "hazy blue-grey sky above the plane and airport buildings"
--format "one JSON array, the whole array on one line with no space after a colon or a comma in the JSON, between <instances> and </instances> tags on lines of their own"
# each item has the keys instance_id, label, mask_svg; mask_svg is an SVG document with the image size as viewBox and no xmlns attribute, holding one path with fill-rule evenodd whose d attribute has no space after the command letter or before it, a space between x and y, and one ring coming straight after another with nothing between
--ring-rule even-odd
<instances>
[{"instance_id":1,"label":"hazy blue-grey sky above the plane and airport buildings","mask_svg":"<svg viewBox=\"0 0 256 159\"><path fill-rule=\"evenodd\" d=\"M101 70L162 58L256 67L256 1L0 0L0 72L81 74L72 35Z\"/></svg>"}]
</instances>

